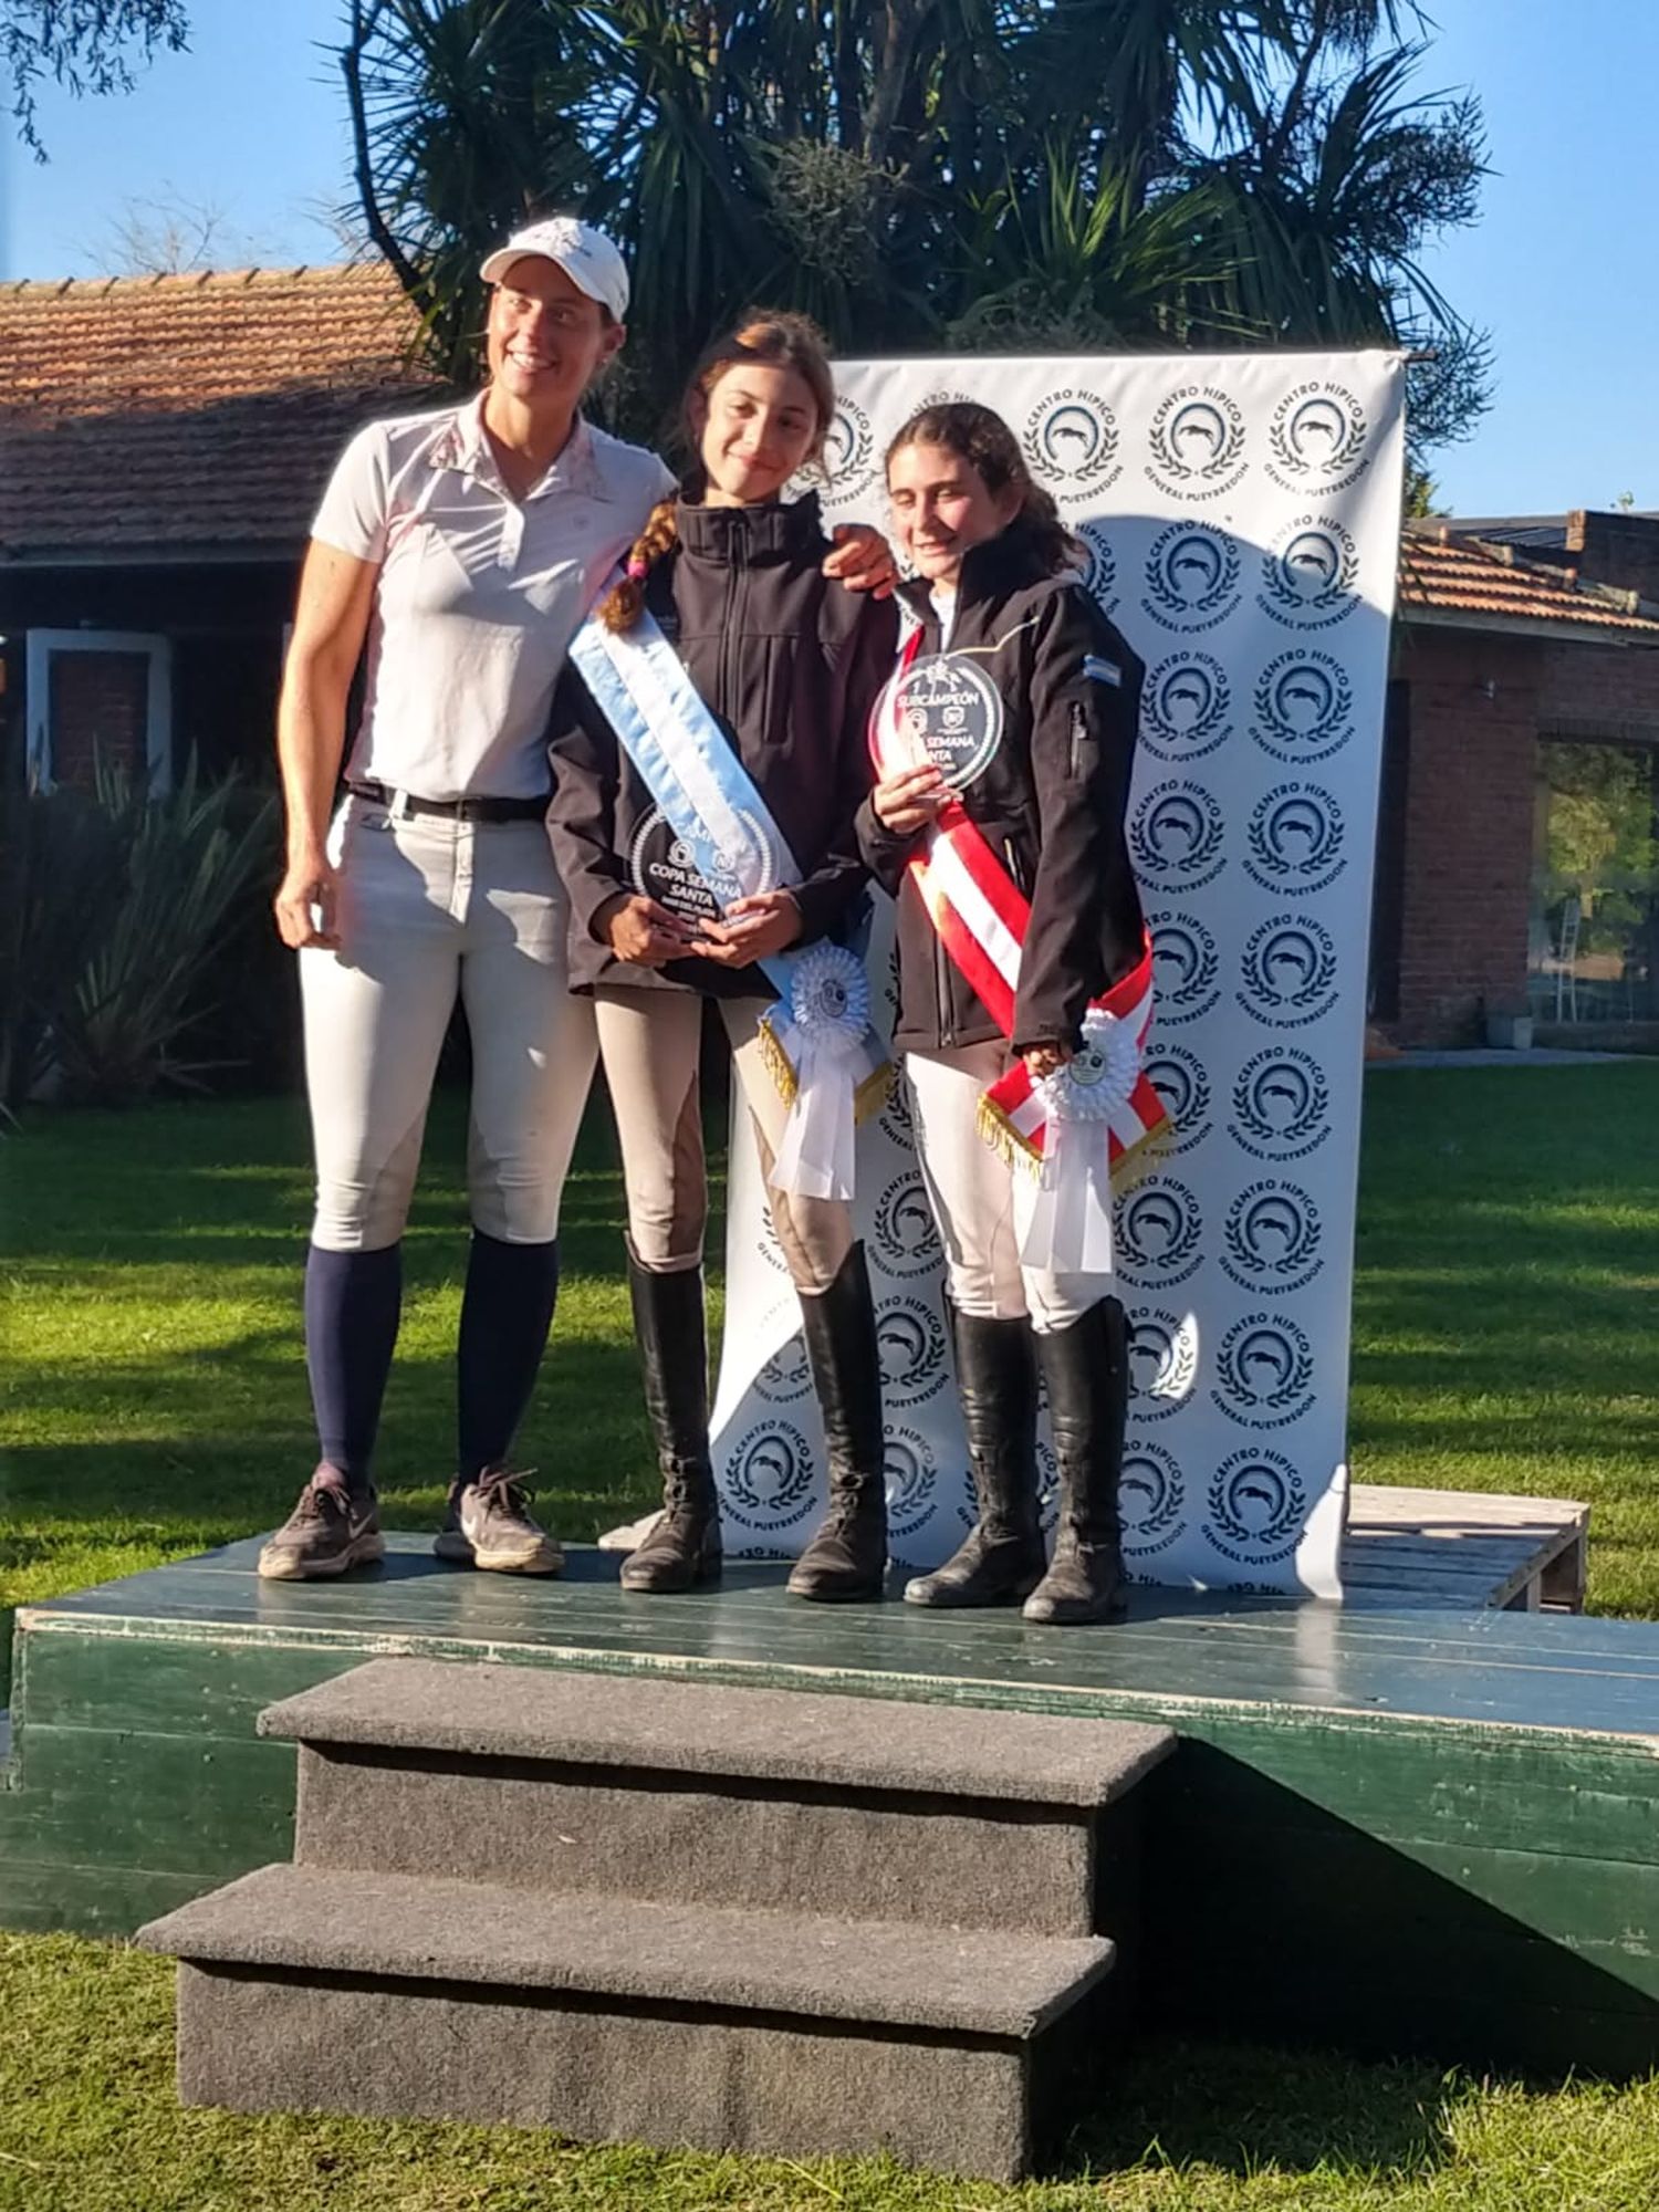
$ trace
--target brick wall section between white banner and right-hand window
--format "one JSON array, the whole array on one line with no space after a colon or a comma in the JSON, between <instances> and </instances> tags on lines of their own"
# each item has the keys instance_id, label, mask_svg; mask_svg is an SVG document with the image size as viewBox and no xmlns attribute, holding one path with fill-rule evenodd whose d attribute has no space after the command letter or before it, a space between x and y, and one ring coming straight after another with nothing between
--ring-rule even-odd
<instances>
[{"instance_id":1,"label":"brick wall section between white banner and right-hand window","mask_svg":"<svg viewBox=\"0 0 1659 2212\"><path fill-rule=\"evenodd\" d=\"M1531 637L1400 633L1409 752L1391 1026L1402 1044L1480 1042L1482 1004L1526 993L1535 730L1551 650Z\"/></svg>"}]
</instances>

